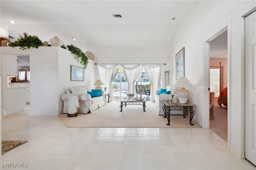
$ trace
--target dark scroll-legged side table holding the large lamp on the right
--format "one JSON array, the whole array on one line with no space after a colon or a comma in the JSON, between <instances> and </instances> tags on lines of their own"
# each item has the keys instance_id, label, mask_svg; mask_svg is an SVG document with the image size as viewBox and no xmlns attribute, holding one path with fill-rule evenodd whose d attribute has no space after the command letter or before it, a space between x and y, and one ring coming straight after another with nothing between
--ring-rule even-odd
<instances>
[{"instance_id":1,"label":"dark scroll-legged side table holding the large lamp on the right","mask_svg":"<svg viewBox=\"0 0 256 170\"><path fill-rule=\"evenodd\" d=\"M166 125L170 126L170 111L182 111L183 110L183 117L186 117L187 110L189 109L190 113L190 125L194 125L192 122L192 119L195 115L195 111L193 110L193 104L191 103L173 103L172 101L164 101L164 118L167 118L168 123Z\"/></svg>"}]
</instances>

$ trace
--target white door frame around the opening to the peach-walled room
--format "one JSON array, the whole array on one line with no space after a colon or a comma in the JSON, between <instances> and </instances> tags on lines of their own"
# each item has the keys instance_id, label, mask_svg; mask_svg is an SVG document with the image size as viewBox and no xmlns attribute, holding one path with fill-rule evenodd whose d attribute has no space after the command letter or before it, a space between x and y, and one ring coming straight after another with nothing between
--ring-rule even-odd
<instances>
[{"instance_id":1,"label":"white door frame around the opening to the peach-walled room","mask_svg":"<svg viewBox=\"0 0 256 170\"><path fill-rule=\"evenodd\" d=\"M230 102L230 97L229 97L229 72L230 72L230 51L231 51L231 21L229 20L226 22L223 26L221 26L218 30L216 30L214 33L212 33L210 36L208 36L206 39L204 39L204 58L203 58L203 79L204 79L204 100L203 100L203 128L210 128L210 105L209 105L209 74L210 74L210 42L214 40L216 37L220 36L223 32L228 32L228 105ZM230 139L230 113L228 109L228 148L230 146L229 144L229 139Z\"/></svg>"}]
</instances>

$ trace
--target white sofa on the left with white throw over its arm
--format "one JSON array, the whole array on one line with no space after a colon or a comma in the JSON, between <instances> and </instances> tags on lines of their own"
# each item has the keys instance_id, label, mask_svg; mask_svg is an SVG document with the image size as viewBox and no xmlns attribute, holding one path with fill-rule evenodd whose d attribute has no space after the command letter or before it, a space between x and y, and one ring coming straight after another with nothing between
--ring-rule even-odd
<instances>
[{"instance_id":1,"label":"white sofa on the left with white throw over its arm","mask_svg":"<svg viewBox=\"0 0 256 170\"><path fill-rule=\"evenodd\" d=\"M75 89L75 90L74 90ZM95 111L96 109L105 105L105 91L101 91L101 96L99 97L91 97L87 91L92 91L88 86L75 86L71 87L71 90L67 90L66 94L62 95L62 100L64 102L63 113L68 113L67 101L68 94L76 92L79 98L79 107L77 109L77 113L90 113Z\"/></svg>"}]
</instances>

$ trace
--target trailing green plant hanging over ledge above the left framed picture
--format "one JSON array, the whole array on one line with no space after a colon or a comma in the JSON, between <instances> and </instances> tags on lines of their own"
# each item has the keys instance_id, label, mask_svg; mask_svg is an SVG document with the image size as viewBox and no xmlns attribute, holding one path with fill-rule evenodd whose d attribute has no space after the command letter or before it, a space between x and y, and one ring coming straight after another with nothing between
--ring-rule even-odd
<instances>
[{"instance_id":1,"label":"trailing green plant hanging over ledge above the left framed picture","mask_svg":"<svg viewBox=\"0 0 256 170\"><path fill-rule=\"evenodd\" d=\"M88 58L86 57L85 53L82 49L76 47L73 44L68 45L68 50L71 51L72 54L75 55L76 61L80 61L80 64L84 65L84 69L86 69L88 65Z\"/></svg>"}]
</instances>

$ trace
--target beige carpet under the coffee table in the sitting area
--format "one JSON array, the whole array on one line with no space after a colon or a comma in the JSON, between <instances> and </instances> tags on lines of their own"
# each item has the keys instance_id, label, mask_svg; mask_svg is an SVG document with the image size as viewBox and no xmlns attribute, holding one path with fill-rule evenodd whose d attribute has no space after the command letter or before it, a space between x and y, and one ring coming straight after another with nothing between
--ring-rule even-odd
<instances>
[{"instance_id":1,"label":"beige carpet under the coffee table in the sitting area","mask_svg":"<svg viewBox=\"0 0 256 170\"><path fill-rule=\"evenodd\" d=\"M89 114L78 114L77 117L59 115L66 127L113 127L113 128L168 128L168 127L201 127L195 121L189 123L189 115L171 115L170 126L166 118L158 115L156 103L147 102L146 112L142 105L127 105L120 112L120 102L112 101Z\"/></svg>"}]
</instances>

